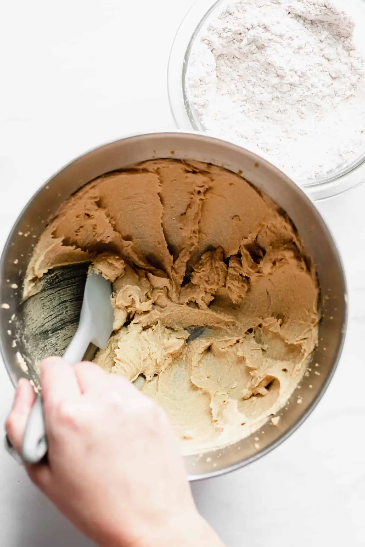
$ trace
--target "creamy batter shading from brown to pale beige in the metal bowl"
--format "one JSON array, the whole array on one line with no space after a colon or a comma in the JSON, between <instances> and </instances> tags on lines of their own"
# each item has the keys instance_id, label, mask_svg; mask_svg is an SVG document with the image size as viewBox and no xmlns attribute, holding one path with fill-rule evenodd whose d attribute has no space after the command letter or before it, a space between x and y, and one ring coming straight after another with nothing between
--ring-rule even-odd
<instances>
[{"instance_id":1,"label":"creamy batter shading from brown to pale beige in the metal bowl","mask_svg":"<svg viewBox=\"0 0 365 547\"><path fill-rule=\"evenodd\" d=\"M50 268L89 260L114 283L114 334L95 362L146 377L184 453L252 433L302 378L315 270L285 213L239 175L154 160L96 179L44 231L25 296Z\"/></svg>"}]
</instances>

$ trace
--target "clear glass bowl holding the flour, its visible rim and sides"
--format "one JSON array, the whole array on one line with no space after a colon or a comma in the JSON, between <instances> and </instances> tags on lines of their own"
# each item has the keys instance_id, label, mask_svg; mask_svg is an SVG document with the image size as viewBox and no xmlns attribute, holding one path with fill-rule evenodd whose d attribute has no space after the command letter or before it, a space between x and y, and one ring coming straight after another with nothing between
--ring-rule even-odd
<instances>
[{"instance_id":1,"label":"clear glass bowl holding the flour, its visible rim and sides","mask_svg":"<svg viewBox=\"0 0 365 547\"><path fill-rule=\"evenodd\" d=\"M177 31L170 53L167 87L172 116L179 129L205 132L208 135L217 136L214 132L206 130L190 104L186 81L187 67L193 46L196 44L197 40L200 40L202 33L204 33L207 26L213 19L217 18L228 5L234 3L234 0L218 0L218 2L212 2L212 0L197 0L188 11ZM357 48L360 49L365 56L365 34L363 32L363 28L365 27L365 2L363 0L334 0L334 3L338 7L341 7L341 5L345 7L346 5L346 10L356 17L355 42ZM227 139L223 133L220 133L218 136ZM230 139L228 138L227 140ZM242 142L239 144L242 146ZM277 164L273 157L263 152L263 150L259 150L258 147L252 146L252 144L248 142L244 143L244 147L250 149L254 153L258 153L264 159L280 168L280 165ZM359 155L355 161L341 166L326 176L306 180L302 179L294 182L300 185L312 199L318 201L342 194L347 190L355 188L364 181L365 146L363 153Z\"/></svg>"}]
</instances>

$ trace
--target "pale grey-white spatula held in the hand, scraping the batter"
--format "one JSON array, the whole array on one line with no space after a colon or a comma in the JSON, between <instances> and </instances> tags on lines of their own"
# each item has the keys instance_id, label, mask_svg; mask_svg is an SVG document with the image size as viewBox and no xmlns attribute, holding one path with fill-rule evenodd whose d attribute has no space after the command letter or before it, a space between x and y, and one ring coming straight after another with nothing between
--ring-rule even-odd
<instances>
[{"instance_id":1,"label":"pale grey-white spatula held in the hand, scraping the batter","mask_svg":"<svg viewBox=\"0 0 365 547\"><path fill-rule=\"evenodd\" d=\"M71 365L85 355L90 343L104 347L113 331L112 286L101 274L90 270L85 284L84 299L79 326L63 359ZM42 409L38 396L28 418L23 444L22 459L27 464L38 463L48 450Z\"/></svg>"}]
</instances>

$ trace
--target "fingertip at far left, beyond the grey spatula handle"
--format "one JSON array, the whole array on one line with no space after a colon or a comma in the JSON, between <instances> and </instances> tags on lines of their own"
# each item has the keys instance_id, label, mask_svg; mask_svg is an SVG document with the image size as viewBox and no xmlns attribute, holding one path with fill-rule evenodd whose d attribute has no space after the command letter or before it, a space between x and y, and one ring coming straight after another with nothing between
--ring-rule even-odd
<instances>
[{"instance_id":1,"label":"fingertip at far left, beyond the grey spatula handle","mask_svg":"<svg viewBox=\"0 0 365 547\"><path fill-rule=\"evenodd\" d=\"M26 423L36 395L25 378L19 380L16 387L13 408L5 422L5 430L11 444L20 455Z\"/></svg>"}]
</instances>

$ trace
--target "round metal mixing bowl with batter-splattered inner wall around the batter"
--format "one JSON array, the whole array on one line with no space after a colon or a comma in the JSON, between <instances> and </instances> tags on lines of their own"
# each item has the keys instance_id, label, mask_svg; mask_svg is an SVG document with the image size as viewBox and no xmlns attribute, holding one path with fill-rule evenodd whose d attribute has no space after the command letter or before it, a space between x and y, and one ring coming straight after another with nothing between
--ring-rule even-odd
<instances>
[{"instance_id":1,"label":"round metal mixing bowl with batter-splattered inner wall around the batter","mask_svg":"<svg viewBox=\"0 0 365 547\"><path fill-rule=\"evenodd\" d=\"M34 242L61 203L91 179L152 158L195 159L242 173L242 177L268 194L291 217L314 259L321 288L320 342L314 352L314 365L310 367L309 375L304 376L300 391L294 393L280 412L277 426L269 420L258 432L238 443L221 450L187 456L189 478L196 480L246 465L293 433L321 399L343 347L346 285L337 248L313 203L277 168L233 144L197 133L178 132L150 133L121 139L74 160L40 188L10 232L0 263L0 347L14 384L21 376L31 376L37 382L34 357L32 359L32 355L27 354L19 319L22 308L20 288ZM49 333L48 342L50 340L53 340L53 333ZM28 370L20 354L24 354ZM302 404L297 404L299 394Z\"/></svg>"}]
</instances>

